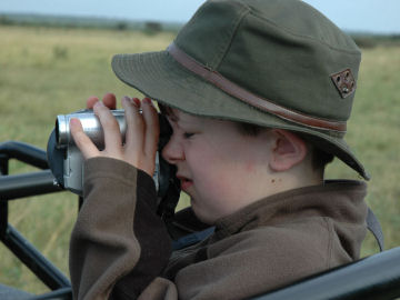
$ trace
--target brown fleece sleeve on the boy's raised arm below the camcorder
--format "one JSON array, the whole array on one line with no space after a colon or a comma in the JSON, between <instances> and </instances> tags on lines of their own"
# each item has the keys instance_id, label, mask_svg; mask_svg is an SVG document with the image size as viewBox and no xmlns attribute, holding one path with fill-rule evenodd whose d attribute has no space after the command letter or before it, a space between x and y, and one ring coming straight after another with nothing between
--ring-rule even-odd
<instances>
[{"instance_id":1,"label":"brown fleece sleeve on the boy's raised arm below the camcorder","mask_svg":"<svg viewBox=\"0 0 400 300\"><path fill-rule=\"evenodd\" d=\"M152 178L109 158L89 159L84 178L70 242L73 299L137 299L148 286L153 293L173 290L172 282L156 280L171 249L154 212Z\"/></svg>"}]
</instances>

